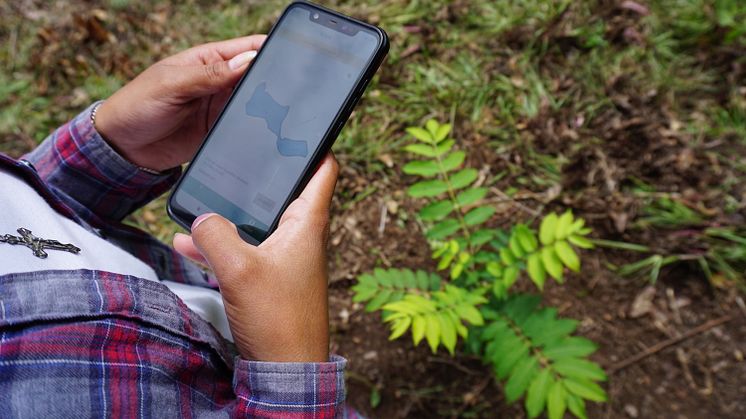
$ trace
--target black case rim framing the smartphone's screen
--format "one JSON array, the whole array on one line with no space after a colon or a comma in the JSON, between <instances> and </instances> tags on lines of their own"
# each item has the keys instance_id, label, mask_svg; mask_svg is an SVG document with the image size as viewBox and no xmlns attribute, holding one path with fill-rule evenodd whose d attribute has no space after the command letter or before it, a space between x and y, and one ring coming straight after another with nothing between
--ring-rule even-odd
<instances>
[{"instance_id":1,"label":"black case rim framing the smartphone's screen","mask_svg":"<svg viewBox=\"0 0 746 419\"><path fill-rule=\"evenodd\" d=\"M347 99L345 100L344 105L340 108L339 112L337 112L337 116L334 118L331 127L329 128L327 133L322 137L319 147L314 152L314 155L311 156L311 159L306 165L306 168L304 169L303 174L301 175L301 177L298 179L295 186L293 187L292 193L288 196L288 198L283 203L278 213L279 215L277 219L275 219L272 222L272 225L269 227L267 235L262 238L256 238L256 237L249 235L247 232L243 231L242 229L240 228L238 229L238 233L241 236L241 238L243 238L244 241L250 244L254 244L254 245L257 245L261 243L262 241L264 241L266 237L268 237L275 229L277 229L277 224L279 223L279 220L282 217L282 214L285 212L285 210L290 205L290 203L293 202L298 197L298 195L300 195L301 191L303 191L303 188L305 188L308 181L311 180L311 177L313 176L316 168L318 167L321 160L326 156L326 154L331 149L332 144L334 144L334 141L337 139L337 136L342 131L342 128L347 122L347 119L350 117L352 110L355 108L355 105L357 105L357 102L362 97L363 93L365 92L366 87L368 86L368 83L375 75L376 71L378 70L378 67L381 65L381 62L386 57L386 54L388 53L388 50L389 50L388 35L383 29L377 26L359 21L357 19L351 18L349 16L345 16L339 12L327 9L326 7L319 6L317 4L314 4L308 1L295 1L291 3L287 8L285 8L280 18L277 19L277 23L279 23L282 20L282 18L285 16L285 14L287 14L289 10L299 5L310 7L312 9L317 9L321 12L334 15L336 18L340 20L344 20L346 22L368 28L378 34L379 45L378 45L378 48L376 49L376 53L373 55L370 63L368 64L368 67L365 69L363 74L355 82L355 86L350 91L350 93L347 95ZM277 27L277 23L275 23L275 25L269 31L269 34L267 35L267 40L269 40L272 37L272 34L274 33L275 28ZM254 60L259 60L261 55L262 55L262 49L259 50L259 53L254 58ZM225 106L220 111L220 114L215 119L215 122L213 123L212 127L210 127L210 129L207 131L207 135L205 135L205 139L202 141L202 145L200 145L199 149L195 153L194 157L192 157L191 161L194 161L196 157L199 155L199 153L202 152L202 149L207 145L207 143L209 142L208 140L210 138L210 135L212 135L213 129L218 124L220 119L223 117L225 110L227 109L228 105L233 100L234 95L238 91L238 87L241 86L241 84L243 84L244 79L246 79L246 77L250 73L251 73L251 67L249 67L249 69L243 74L243 76L241 76L241 79L238 81L238 83L236 83L236 88L233 90L231 97L228 99ZM179 181L176 183L176 186L174 187L173 191L171 192L171 195L168 198L168 204L166 206L166 210L168 212L168 215L171 217L171 219L173 219L178 225L191 231L191 225L194 222L194 219L196 218L196 216L194 214L188 213L187 211L179 210L178 205L174 202L174 196L176 195L176 191L179 190L179 187L181 186L182 181L189 174L190 169L191 167L187 168L187 170L184 171L184 173L179 178Z\"/></svg>"}]
</instances>

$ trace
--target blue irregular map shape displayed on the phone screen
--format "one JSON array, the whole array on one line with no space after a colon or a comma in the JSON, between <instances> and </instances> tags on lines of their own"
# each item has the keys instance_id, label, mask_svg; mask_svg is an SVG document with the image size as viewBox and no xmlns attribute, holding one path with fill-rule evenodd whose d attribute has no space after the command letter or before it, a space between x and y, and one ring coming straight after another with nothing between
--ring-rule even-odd
<instances>
[{"instance_id":1,"label":"blue irregular map shape displayed on the phone screen","mask_svg":"<svg viewBox=\"0 0 746 419\"><path fill-rule=\"evenodd\" d=\"M288 116L290 106L277 103L267 92L267 83L262 83L254 90L251 99L246 103L246 115L264 119L272 133L277 136L277 151L285 157L306 157L308 145L305 141L291 140L282 136L282 124Z\"/></svg>"}]
</instances>

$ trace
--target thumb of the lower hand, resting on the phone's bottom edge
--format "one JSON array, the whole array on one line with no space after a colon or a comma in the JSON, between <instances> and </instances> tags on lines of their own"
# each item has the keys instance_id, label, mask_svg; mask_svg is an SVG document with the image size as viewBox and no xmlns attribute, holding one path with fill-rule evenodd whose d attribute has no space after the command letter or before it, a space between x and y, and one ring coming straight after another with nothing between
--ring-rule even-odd
<instances>
[{"instance_id":1,"label":"thumb of the lower hand, resting on the phone's bottom edge","mask_svg":"<svg viewBox=\"0 0 746 419\"><path fill-rule=\"evenodd\" d=\"M255 251L238 235L233 223L212 213L194 220L192 242L218 276L225 269L245 266Z\"/></svg>"}]
</instances>

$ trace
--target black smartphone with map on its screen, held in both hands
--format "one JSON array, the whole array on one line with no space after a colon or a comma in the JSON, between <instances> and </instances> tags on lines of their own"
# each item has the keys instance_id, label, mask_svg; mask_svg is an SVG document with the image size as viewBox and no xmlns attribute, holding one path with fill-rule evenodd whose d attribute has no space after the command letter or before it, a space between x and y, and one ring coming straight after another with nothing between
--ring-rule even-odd
<instances>
[{"instance_id":1,"label":"black smartphone with map on its screen, held in both hands","mask_svg":"<svg viewBox=\"0 0 746 419\"><path fill-rule=\"evenodd\" d=\"M308 2L288 6L168 200L187 230L231 220L259 244L329 151L388 52L375 26Z\"/></svg>"}]
</instances>

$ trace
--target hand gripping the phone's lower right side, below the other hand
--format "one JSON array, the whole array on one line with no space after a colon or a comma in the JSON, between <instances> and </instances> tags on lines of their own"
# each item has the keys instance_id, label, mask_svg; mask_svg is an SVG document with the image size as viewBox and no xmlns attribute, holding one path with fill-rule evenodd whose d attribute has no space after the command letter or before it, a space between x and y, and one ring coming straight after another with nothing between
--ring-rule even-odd
<instances>
[{"instance_id":1,"label":"hand gripping the phone's lower right side, below the other hand","mask_svg":"<svg viewBox=\"0 0 746 419\"><path fill-rule=\"evenodd\" d=\"M245 359L329 360L326 243L338 165L327 156L277 230L257 247L217 214L194 220L174 248L215 272L225 313Z\"/></svg>"}]
</instances>

